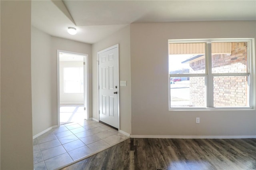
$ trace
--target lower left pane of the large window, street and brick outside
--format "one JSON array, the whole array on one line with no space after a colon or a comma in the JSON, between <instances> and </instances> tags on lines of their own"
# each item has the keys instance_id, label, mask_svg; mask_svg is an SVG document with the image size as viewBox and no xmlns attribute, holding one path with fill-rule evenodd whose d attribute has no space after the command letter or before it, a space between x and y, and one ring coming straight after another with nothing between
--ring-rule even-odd
<instances>
[{"instance_id":1,"label":"lower left pane of the large window, street and brick outside","mask_svg":"<svg viewBox=\"0 0 256 170\"><path fill-rule=\"evenodd\" d=\"M171 77L171 107L205 107L205 77Z\"/></svg>"}]
</instances>

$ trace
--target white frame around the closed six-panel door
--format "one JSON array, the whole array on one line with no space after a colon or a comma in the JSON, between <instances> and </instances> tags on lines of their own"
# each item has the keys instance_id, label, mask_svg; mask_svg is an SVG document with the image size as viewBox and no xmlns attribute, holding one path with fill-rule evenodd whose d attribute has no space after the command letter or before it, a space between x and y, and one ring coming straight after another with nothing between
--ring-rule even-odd
<instances>
[{"instance_id":1,"label":"white frame around the closed six-panel door","mask_svg":"<svg viewBox=\"0 0 256 170\"><path fill-rule=\"evenodd\" d=\"M101 50L101 51L98 51L97 52L97 84L98 84L98 88L97 88L97 93L98 93L98 122L100 121L100 91L99 91L99 87L100 87L100 85L99 85L99 55L100 55L100 53L104 53L104 52L106 52L106 51L108 51L108 50L110 50L110 49L114 49L114 48L116 48L117 47L117 53L118 53L118 56L117 56L117 82L118 82L118 93L117 93L117 95L118 95L118 97L117 97L117 103L118 103L118 109L117 109L117 111L118 111L118 131L120 131L120 112L119 112L119 93L120 93L120 83L119 83L119 44L116 44L116 45L113 45L113 46L111 46L111 47L108 47L108 48L106 48L106 49L103 49L103 50Z\"/></svg>"}]
</instances>

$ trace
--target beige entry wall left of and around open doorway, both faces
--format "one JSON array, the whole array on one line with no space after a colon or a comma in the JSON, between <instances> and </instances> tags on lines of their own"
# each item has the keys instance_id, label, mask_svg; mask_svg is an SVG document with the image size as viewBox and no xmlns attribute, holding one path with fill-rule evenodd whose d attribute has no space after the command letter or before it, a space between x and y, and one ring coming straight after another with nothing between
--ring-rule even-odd
<instances>
[{"instance_id":1,"label":"beige entry wall left of and around open doorway, both faces","mask_svg":"<svg viewBox=\"0 0 256 170\"><path fill-rule=\"evenodd\" d=\"M31 32L33 135L58 124L57 118L57 50L85 53L91 62L91 45L52 37L37 28ZM89 90L92 88L89 65ZM90 101L92 99L90 90ZM90 108L92 103L90 103ZM90 109L92 117L92 109Z\"/></svg>"}]
</instances>

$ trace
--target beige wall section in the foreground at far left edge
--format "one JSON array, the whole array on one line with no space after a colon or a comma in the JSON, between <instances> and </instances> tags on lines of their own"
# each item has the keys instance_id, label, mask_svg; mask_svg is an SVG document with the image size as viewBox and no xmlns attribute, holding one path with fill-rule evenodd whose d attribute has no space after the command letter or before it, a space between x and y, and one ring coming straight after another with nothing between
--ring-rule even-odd
<instances>
[{"instance_id":1,"label":"beige wall section in the foreground at far left edge","mask_svg":"<svg viewBox=\"0 0 256 170\"><path fill-rule=\"evenodd\" d=\"M31 1L1 1L1 169L32 170Z\"/></svg>"}]
</instances>

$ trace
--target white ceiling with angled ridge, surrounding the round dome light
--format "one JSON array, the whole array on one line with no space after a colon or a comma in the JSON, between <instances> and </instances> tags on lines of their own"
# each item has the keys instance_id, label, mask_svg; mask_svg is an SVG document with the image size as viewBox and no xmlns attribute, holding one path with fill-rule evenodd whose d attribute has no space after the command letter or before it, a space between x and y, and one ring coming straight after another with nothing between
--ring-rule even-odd
<instances>
[{"instance_id":1,"label":"white ceiling with angled ridge, surrounding the round dome light","mask_svg":"<svg viewBox=\"0 0 256 170\"><path fill-rule=\"evenodd\" d=\"M256 20L256 0L32 1L32 26L56 37L96 43L131 23ZM69 35L67 28L77 29Z\"/></svg>"}]
</instances>

